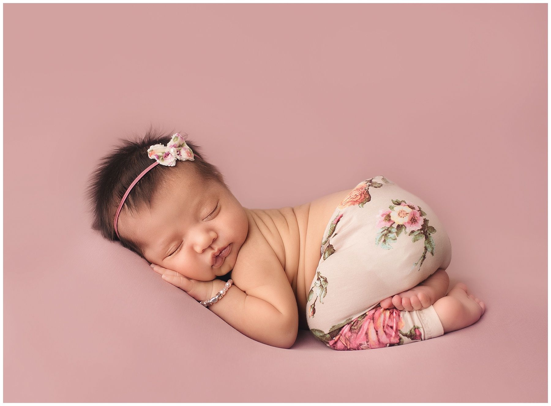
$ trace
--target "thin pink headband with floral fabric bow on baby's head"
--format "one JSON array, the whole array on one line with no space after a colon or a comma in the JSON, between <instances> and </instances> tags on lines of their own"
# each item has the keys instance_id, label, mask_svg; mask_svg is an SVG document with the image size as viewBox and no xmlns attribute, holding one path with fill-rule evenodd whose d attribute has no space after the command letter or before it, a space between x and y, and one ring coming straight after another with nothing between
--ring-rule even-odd
<instances>
[{"instance_id":1,"label":"thin pink headband with floral fabric bow on baby's head","mask_svg":"<svg viewBox=\"0 0 551 406\"><path fill-rule=\"evenodd\" d=\"M147 174L147 172L152 169L157 164L165 165L165 166L174 166L176 165L176 161L193 161L195 158L193 157L193 151L190 147L187 146L185 140L183 137L176 133L171 138L168 144L166 144L166 147L163 144L155 144L149 147L147 150L147 154L149 158L154 159L155 162L151 165L149 165L146 169L142 171L141 174L138 175L136 179L132 182L130 186L128 186L128 189L126 190L125 196L122 197L121 203L118 205L117 213L115 214L115 232L117 234L118 239L121 239L121 236L118 235L117 231L117 220L118 220L118 214L121 213L122 205L125 204L126 197L128 196L128 193L132 190L134 185L142 178L143 175Z\"/></svg>"}]
</instances>

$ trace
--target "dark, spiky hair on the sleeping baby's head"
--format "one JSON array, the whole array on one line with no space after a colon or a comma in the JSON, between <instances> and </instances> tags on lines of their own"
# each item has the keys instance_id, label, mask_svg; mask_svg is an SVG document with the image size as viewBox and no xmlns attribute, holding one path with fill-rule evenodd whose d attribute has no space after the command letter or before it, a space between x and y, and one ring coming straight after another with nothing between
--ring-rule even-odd
<instances>
[{"instance_id":1,"label":"dark, spiky hair on the sleeping baby's head","mask_svg":"<svg viewBox=\"0 0 551 406\"><path fill-rule=\"evenodd\" d=\"M121 245L136 252L144 258L143 247L138 243L125 239L121 236L119 240L115 233L113 221L118 205L125 195L128 186L146 169L153 164L147 150L154 144L167 145L174 132L165 133L150 127L145 136L138 140L118 138L121 145L115 146L109 154L100 160L98 167L94 170L87 186L87 199L89 211L93 216L92 229L101 232L107 240L121 241ZM225 188L224 176L218 168L209 164L201 152L201 147L187 139L187 134L180 132L186 139L186 144L193 151L195 160L176 161L175 166L156 165L150 169L132 187L123 207L127 207L130 213L147 206L151 208L152 197L166 185L167 181L177 173L185 171L188 176L199 176L203 181L217 181ZM193 175L191 175L193 174Z\"/></svg>"}]
</instances>

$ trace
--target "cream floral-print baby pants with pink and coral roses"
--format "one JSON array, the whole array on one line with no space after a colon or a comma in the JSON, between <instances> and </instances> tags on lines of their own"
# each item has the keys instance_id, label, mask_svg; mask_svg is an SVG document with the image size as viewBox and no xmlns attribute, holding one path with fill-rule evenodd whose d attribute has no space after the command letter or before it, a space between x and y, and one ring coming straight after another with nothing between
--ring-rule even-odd
<instances>
[{"instance_id":1,"label":"cream floral-print baby pants with pink and coral roses","mask_svg":"<svg viewBox=\"0 0 551 406\"><path fill-rule=\"evenodd\" d=\"M379 306L450 264L444 226L417 196L383 176L360 182L327 224L321 254L306 320L328 347L381 348L444 334L432 305Z\"/></svg>"}]
</instances>

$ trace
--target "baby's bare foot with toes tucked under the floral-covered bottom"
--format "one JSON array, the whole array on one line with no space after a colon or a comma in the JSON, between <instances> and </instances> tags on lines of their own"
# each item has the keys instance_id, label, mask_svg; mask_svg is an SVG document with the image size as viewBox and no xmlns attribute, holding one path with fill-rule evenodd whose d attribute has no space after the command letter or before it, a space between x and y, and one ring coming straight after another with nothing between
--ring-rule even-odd
<instances>
[{"instance_id":1,"label":"baby's bare foot with toes tucked under the floral-covered bottom","mask_svg":"<svg viewBox=\"0 0 551 406\"><path fill-rule=\"evenodd\" d=\"M422 310L434 304L440 297L444 297L450 284L450 278L444 269L437 269L435 273L422 283L394 296L381 300L382 308L396 307L398 310Z\"/></svg>"}]
</instances>

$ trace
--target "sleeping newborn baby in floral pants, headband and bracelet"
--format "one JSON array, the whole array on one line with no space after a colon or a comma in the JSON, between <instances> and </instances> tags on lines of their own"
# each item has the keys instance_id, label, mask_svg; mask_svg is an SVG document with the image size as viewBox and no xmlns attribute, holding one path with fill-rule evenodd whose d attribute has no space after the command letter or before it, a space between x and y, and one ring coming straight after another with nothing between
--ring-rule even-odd
<instances>
[{"instance_id":1,"label":"sleeping newborn baby in floral pants, headband and bracelet","mask_svg":"<svg viewBox=\"0 0 551 406\"><path fill-rule=\"evenodd\" d=\"M447 292L451 245L433 210L381 175L248 209L196 145L150 131L104 158L89 197L94 229L274 347L290 348L298 328L337 350L407 344L485 310L463 283Z\"/></svg>"}]
</instances>

